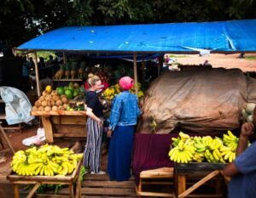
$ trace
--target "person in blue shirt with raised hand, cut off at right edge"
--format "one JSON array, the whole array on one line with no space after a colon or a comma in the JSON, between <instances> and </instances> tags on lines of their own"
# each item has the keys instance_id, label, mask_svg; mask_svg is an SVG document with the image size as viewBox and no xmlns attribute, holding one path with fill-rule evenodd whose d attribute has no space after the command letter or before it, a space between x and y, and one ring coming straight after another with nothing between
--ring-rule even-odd
<instances>
[{"instance_id":1,"label":"person in blue shirt with raised hand, cut off at right edge","mask_svg":"<svg viewBox=\"0 0 256 198\"><path fill-rule=\"evenodd\" d=\"M253 110L253 123L241 126L241 133L236 150L236 160L224 167L224 175L231 177L229 198L256 197L256 142L248 147L248 140L254 135L256 126L256 108Z\"/></svg>"}]
</instances>

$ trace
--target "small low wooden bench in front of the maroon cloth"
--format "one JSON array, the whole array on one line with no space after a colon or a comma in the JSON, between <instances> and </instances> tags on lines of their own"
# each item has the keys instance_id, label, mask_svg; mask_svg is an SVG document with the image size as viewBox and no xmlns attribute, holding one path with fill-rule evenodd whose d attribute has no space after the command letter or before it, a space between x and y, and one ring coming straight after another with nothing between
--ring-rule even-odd
<instances>
[{"instance_id":1,"label":"small low wooden bench in front of the maroon cloth","mask_svg":"<svg viewBox=\"0 0 256 198\"><path fill-rule=\"evenodd\" d=\"M163 184L173 185L173 167L161 167L153 170L143 171L140 173L140 179L137 190L139 196L161 196L161 197L175 197L173 193L164 192L147 192L143 191L143 185L146 184Z\"/></svg>"}]
</instances>

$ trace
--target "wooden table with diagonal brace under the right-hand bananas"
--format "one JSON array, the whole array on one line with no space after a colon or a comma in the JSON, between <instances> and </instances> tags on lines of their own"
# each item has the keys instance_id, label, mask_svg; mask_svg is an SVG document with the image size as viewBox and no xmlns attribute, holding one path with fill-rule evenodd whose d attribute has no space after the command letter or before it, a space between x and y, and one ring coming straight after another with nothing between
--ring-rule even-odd
<instances>
[{"instance_id":1,"label":"wooden table with diagonal brace under the right-hand bananas","mask_svg":"<svg viewBox=\"0 0 256 198\"><path fill-rule=\"evenodd\" d=\"M176 187L177 198L183 198L198 189L202 184L212 178L216 178L222 175L222 169L224 164L212 164L212 163L189 163L189 164L176 164L174 169L174 179ZM186 189L187 178L201 178L197 183L193 184L189 189ZM225 178L228 179L228 178ZM216 183L217 191L214 197L223 197L220 193L219 180ZM198 195L197 197L207 197L208 195Z\"/></svg>"}]
</instances>

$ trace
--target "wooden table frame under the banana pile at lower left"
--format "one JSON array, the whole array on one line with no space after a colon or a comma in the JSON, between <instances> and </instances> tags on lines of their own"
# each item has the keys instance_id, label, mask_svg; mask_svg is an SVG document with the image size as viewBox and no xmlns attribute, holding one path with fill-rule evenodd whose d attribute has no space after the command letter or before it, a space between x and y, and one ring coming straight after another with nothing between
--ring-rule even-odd
<instances>
[{"instance_id":1,"label":"wooden table frame under the banana pile at lower left","mask_svg":"<svg viewBox=\"0 0 256 198\"><path fill-rule=\"evenodd\" d=\"M34 193L38 190L41 184L64 184L68 185L69 196L68 197L76 197L81 198L81 180L80 180L80 169L82 166L82 160L79 161L78 166L74 169L71 175L63 176L63 177L49 177L49 176L19 176L15 174L10 174L7 178L10 183L14 186L15 198L20 197L19 193L19 184L34 184L34 187L30 191L30 193L26 196L26 198L32 198ZM75 184L75 190L73 189L73 184ZM74 196L74 191L75 196Z\"/></svg>"}]
</instances>

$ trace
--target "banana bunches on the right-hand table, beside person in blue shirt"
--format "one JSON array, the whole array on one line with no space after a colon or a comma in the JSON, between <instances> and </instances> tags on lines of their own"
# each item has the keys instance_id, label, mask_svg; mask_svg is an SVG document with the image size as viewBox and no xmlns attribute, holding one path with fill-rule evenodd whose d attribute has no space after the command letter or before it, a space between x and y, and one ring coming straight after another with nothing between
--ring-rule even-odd
<instances>
[{"instance_id":1,"label":"banana bunches on the right-hand table, beside person in blue shirt","mask_svg":"<svg viewBox=\"0 0 256 198\"><path fill-rule=\"evenodd\" d=\"M232 162L236 158L238 138L230 131L224 134L223 139L211 136L190 137L183 132L177 138L172 138L173 149L169 156L177 163L191 161L210 163Z\"/></svg>"}]
</instances>

